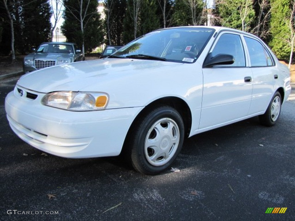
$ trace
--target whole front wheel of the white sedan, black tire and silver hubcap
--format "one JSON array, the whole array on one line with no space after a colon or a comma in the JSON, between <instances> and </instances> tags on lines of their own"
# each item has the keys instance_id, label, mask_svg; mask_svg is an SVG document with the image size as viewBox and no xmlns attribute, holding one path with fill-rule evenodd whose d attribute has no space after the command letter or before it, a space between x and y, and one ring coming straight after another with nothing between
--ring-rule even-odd
<instances>
[{"instance_id":1,"label":"whole front wheel of the white sedan, black tire and silver hubcap","mask_svg":"<svg viewBox=\"0 0 295 221\"><path fill-rule=\"evenodd\" d=\"M159 106L140 118L127 139L127 157L134 169L143 174L158 174L167 169L181 151L183 120L174 108Z\"/></svg>"}]
</instances>

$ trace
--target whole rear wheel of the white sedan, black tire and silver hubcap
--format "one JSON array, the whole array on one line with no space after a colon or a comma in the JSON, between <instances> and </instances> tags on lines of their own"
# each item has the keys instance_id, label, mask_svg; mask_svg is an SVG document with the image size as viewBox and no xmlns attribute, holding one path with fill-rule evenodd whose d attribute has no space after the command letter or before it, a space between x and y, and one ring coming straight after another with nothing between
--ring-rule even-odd
<instances>
[{"instance_id":1,"label":"whole rear wheel of the white sedan, black tire and silver hubcap","mask_svg":"<svg viewBox=\"0 0 295 221\"><path fill-rule=\"evenodd\" d=\"M276 93L271 98L271 102L263 115L259 115L259 121L264 126L273 126L278 121L278 117L281 113L282 98L281 94L276 91Z\"/></svg>"}]
</instances>

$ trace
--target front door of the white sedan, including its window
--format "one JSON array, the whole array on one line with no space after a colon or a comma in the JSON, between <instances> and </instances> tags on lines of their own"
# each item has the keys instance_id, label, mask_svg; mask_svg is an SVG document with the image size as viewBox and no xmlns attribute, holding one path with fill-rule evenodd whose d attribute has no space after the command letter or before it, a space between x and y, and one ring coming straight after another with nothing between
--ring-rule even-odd
<instances>
[{"instance_id":1,"label":"front door of the white sedan, including its window","mask_svg":"<svg viewBox=\"0 0 295 221\"><path fill-rule=\"evenodd\" d=\"M232 65L203 68L203 100L199 129L221 126L248 115L252 96L252 72L242 43L235 32L222 32L217 36L212 55L234 56Z\"/></svg>"}]
</instances>

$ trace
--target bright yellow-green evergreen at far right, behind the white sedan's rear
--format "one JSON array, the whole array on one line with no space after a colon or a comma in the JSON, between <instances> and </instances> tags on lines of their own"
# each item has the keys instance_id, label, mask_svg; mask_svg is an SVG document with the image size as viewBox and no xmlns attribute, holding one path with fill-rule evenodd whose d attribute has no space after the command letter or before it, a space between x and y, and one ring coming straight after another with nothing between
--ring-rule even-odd
<instances>
[{"instance_id":1,"label":"bright yellow-green evergreen at far right, behind the white sedan's rear","mask_svg":"<svg viewBox=\"0 0 295 221\"><path fill-rule=\"evenodd\" d=\"M290 31L287 19L291 14L291 0L272 0L271 41L269 45L278 59L289 60L291 48L287 42Z\"/></svg>"}]
</instances>

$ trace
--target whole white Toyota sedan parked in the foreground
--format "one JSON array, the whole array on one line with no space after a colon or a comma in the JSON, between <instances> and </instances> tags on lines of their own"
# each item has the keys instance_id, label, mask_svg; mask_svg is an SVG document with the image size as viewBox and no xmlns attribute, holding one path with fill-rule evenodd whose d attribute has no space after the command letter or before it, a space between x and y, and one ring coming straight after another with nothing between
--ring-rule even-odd
<instances>
[{"instance_id":1,"label":"whole white Toyota sedan parked in the foreground","mask_svg":"<svg viewBox=\"0 0 295 221\"><path fill-rule=\"evenodd\" d=\"M222 27L160 29L108 58L22 76L5 100L12 130L57 156L120 153L157 174L183 139L259 116L272 126L289 69L254 35Z\"/></svg>"}]
</instances>

